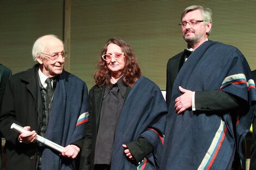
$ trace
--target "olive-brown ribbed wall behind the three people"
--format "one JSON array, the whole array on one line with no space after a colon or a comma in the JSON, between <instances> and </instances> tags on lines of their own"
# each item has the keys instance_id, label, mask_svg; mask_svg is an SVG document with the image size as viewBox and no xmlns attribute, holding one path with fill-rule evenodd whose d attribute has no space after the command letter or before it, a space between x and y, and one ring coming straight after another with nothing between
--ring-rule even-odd
<instances>
[{"instance_id":1,"label":"olive-brown ribbed wall behind the three people","mask_svg":"<svg viewBox=\"0 0 256 170\"><path fill-rule=\"evenodd\" d=\"M166 64L186 48L181 12L189 5L212 10L210 40L239 48L256 69L255 1L0 0L0 62L17 73L32 67L32 46L41 35L65 41L65 69L93 86L97 58L110 37L131 44L145 76L165 90Z\"/></svg>"}]
</instances>

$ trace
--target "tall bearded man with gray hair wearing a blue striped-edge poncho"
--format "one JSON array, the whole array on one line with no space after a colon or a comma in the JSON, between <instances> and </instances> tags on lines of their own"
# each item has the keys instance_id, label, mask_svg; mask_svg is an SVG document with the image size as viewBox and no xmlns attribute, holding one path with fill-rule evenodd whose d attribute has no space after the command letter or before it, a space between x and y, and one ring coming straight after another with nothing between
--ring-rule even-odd
<instances>
[{"instance_id":1,"label":"tall bearded man with gray hair wearing a blue striped-edge poncho","mask_svg":"<svg viewBox=\"0 0 256 170\"><path fill-rule=\"evenodd\" d=\"M242 141L256 100L251 69L239 49L208 40L212 12L187 7L181 32L187 49L167 65L165 169L242 169Z\"/></svg>"}]
</instances>

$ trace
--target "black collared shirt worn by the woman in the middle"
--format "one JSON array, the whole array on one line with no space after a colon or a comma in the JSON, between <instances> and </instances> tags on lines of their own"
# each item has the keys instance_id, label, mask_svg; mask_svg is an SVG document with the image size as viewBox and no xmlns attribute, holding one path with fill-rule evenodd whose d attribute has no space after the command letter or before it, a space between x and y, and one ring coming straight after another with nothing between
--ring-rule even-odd
<instances>
[{"instance_id":1,"label":"black collared shirt worn by the woman in the middle","mask_svg":"<svg viewBox=\"0 0 256 170\"><path fill-rule=\"evenodd\" d=\"M94 164L110 165L115 128L123 109L127 89L122 80L123 77L105 89L96 138Z\"/></svg>"}]
</instances>

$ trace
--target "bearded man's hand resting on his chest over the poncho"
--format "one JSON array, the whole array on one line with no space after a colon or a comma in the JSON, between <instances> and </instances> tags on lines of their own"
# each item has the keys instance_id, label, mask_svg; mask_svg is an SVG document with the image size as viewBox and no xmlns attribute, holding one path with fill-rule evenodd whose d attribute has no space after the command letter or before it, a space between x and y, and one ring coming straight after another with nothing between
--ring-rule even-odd
<instances>
[{"instance_id":1,"label":"bearded man's hand resting on his chest over the poncho","mask_svg":"<svg viewBox=\"0 0 256 170\"><path fill-rule=\"evenodd\" d=\"M179 90L180 92L183 93L183 95L175 99L175 105L174 105L174 109L178 115L184 112L185 110L192 108L192 96L193 96L192 91L183 89L181 86L179 86Z\"/></svg>"}]
</instances>

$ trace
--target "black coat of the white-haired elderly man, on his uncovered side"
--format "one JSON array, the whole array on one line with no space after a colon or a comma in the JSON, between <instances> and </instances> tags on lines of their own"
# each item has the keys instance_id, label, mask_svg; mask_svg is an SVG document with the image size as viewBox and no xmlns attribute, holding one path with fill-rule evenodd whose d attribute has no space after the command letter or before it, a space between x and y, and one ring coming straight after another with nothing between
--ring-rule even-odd
<instances>
[{"instance_id":1,"label":"black coat of the white-haired elderly man, on his uncovered side","mask_svg":"<svg viewBox=\"0 0 256 170\"><path fill-rule=\"evenodd\" d=\"M7 81L0 115L0 131L6 139L7 169L34 170L36 164L36 143L20 143L19 133L10 129L12 123L39 131L38 126L38 79L33 68L14 74ZM26 163L25 163L26 162ZM26 166L25 166L26 165Z\"/></svg>"}]
</instances>

